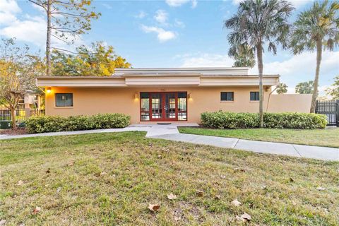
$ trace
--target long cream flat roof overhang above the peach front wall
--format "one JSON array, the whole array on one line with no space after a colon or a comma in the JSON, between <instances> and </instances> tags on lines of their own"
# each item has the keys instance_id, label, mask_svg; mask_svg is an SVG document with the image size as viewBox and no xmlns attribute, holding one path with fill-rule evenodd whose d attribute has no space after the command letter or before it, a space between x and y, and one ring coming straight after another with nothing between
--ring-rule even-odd
<instances>
[{"instance_id":1,"label":"long cream flat roof overhang above the peach front wall","mask_svg":"<svg viewBox=\"0 0 339 226\"><path fill-rule=\"evenodd\" d=\"M278 85L279 75L264 75L263 85ZM124 76L41 76L38 87L254 86L257 75L126 74Z\"/></svg>"}]
</instances>

